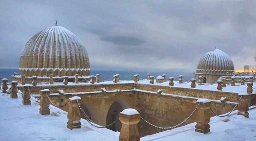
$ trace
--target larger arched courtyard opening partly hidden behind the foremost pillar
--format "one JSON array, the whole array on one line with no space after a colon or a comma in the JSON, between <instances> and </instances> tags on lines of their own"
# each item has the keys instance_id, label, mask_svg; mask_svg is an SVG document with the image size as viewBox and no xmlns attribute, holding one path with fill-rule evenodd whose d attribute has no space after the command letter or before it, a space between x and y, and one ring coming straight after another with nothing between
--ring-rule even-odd
<instances>
[{"instance_id":1,"label":"larger arched courtyard opening partly hidden behind the foremost pillar","mask_svg":"<svg viewBox=\"0 0 256 141\"><path fill-rule=\"evenodd\" d=\"M114 122L118 117L119 113L122 112L124 109L130 108L129 104L122 100L118 99L116 100L109 108L108 113L107 113L107 119L106 119L106 125ZM107 127L108 129L112 131L118 131L120 132L122 127L121 122L116 122L112 126Z\"/></svg>"}]
</instances>

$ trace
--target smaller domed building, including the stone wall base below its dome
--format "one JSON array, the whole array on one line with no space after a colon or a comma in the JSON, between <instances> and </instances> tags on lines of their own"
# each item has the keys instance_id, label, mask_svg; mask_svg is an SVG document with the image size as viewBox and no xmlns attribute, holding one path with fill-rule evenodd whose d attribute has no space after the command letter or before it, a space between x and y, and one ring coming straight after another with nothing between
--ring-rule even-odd
<instances>
[{"instance_id":1,"label":"smaller domed building, including the stone wall base below its dome","mask_svg":"<svg viewBox=\"0 0 256 141\"><path fill-rule=\"evenodd\" d=\"M227 72L234 72L234 64L231 58L223 51L215 48L205 53L200 59L194 78L203 77L203 83L214 83L221 76L226 76Z\"/></svg>"}]
</instances>

